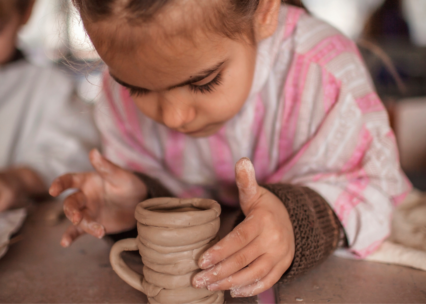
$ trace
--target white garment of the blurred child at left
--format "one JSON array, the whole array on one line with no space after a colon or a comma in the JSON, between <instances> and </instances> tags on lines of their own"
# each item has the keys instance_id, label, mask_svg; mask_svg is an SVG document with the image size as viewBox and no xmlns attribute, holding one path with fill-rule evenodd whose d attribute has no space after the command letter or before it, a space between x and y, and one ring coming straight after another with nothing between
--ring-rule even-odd
<instances>
[{"instance_id":1,"label":"white garment of the blurred child at left","mask_svg":"<svg viewBox=\"0 0 426 304\"><path fill-rule=\"evenodd\" d=\"M26 165L50 185L69 171L92 170L99 145L91 109L57 69L24 59L0 66L0 170Z\"/></svg>"}]
</instances>

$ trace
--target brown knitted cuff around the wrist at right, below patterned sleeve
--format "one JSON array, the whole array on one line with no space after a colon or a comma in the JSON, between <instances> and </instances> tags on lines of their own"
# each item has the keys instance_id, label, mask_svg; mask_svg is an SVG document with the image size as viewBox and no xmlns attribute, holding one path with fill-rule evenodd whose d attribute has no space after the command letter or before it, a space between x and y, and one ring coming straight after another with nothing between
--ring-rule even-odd
<instances>
[{"instance_id":1,"label":"brown knitted cuff around the wrist at right, below patterned sleeve","mask_svg":"<svg viewBox=\"0 0 426 304\"><path fill-rule=\"evenodd\" d=\"M284 203L293 224L296 251L293 263L279 280L285 283L324 261L336 249L343 228L314 190L290 184L262 186Z\"/></svg>"}]
</instances>

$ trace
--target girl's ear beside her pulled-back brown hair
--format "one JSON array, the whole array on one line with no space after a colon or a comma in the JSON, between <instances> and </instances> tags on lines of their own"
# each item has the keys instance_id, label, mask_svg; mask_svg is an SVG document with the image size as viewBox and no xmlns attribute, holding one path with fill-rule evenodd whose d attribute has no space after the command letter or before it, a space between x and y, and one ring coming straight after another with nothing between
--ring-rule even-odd
<instances>
[{"instance_id":1,"label":"girl's ear beside her pulled-back brown hair","mask_svg":"<svg viewBox=\"0 0 426 304\"><path fill-rule=\"evenodd\" d=\"M260 0L254 17L256 42L268 38L278 26L281 0Z\"/></svg>"}]
</instances>

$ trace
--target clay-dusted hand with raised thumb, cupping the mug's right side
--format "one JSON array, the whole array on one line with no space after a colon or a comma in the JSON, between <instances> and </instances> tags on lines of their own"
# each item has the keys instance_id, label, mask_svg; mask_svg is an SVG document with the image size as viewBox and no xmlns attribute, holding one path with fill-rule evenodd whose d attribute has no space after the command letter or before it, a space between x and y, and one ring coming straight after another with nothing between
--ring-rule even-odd
<instances>
[{"instance_id":1,"label":"clay-dusted hand with raised thumb, cupping the mug's right side","mask_svg":"<svg viewBox=\"0 0 426 304\"><path fill-rule=\"evenodd\" d=\"M248 158L236 163L235 176L246 218L201 255L198 264L204 270L194 275L192 284L248 297L271 288L290 267L294 233L284 204L257 184Z\"/></svg>"}]
</instances>

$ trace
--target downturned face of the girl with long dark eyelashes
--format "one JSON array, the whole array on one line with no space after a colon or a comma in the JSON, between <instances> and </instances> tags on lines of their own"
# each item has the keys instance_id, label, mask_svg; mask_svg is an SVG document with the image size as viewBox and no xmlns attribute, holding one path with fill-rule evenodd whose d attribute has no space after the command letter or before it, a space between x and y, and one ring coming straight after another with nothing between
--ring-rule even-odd
<instances>
[{"instance_id":1,"label":"downturned face of the girl with long dark eyelashes","mask_svg":"<svg viewBox=\"0 0 426 304\"><path fill-rule=\"evenodd\" d=\"M91 34L105 29L93 26L89 35L109 73L129 89L141 112L170 129L213 135L248 97L256 62L256 47L248 42L151 35L134 51L111 52Z\"/></svg>"}]
</instances>

